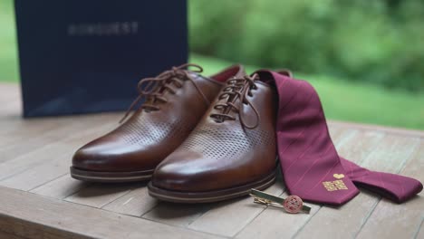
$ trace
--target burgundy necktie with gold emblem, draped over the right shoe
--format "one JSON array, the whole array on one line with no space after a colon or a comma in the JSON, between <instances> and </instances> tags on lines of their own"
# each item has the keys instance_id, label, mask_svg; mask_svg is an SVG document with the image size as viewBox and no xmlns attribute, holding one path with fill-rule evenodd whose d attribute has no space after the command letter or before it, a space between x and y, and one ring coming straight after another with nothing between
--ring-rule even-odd
<instances>
[{"instance_id":1,"label":"burgundy necktie with gold emblem, draped over the right shoe","mask_svg":"<svg viewBox=\"0 0 424 239\"><path fill-rule=\"evenodd\" d=\"M340 158L330 138L323 107L313 86L277 72L258 71L274 82L279 97L277 149L285 185L292 195L342 205L364 186L401 203L422 190L410 177L370 171ZM355 185L354 185L355 184Z\"/></svg>"}]
</instances>

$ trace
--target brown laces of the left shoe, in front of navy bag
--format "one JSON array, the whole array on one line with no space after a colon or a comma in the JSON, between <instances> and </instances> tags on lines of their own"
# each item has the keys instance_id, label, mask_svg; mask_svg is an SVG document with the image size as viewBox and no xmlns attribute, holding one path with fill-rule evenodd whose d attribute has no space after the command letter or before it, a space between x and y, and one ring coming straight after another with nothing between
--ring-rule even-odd
<instances>
[{"instance_id":1,"label":"brown laces of the left shoe, in front of navy bag","mask_svg":"<svg viewBox=\"0 0 424 239\"><path fill-rule=\"evenodd\" d=\"M195 68L194 70L189 70L188 68ZM157 77L148 77L141 79L137 84L137 91L139 91L139 96L132 101L130 104L130 108L127 110L122 119L120 119L120 123L128 118L131 110L140 102L143 97L146 99L144 103L140 106L142 110L160 110L157 102L168 102L168 99L164 97L164 93L169 91L172 94L176 93L171 85L176 86L177 88L181 88L183 86L183 81L191 81L194 86L201 94L205 102L210 104L210 101L207 100L205 94L200 90L198 84L191 77L190 72L201 73L203 72L203 68L198 64L186 63L177 67L172 67L171 70L160 73Z\"/></svg>"}]
</instances>

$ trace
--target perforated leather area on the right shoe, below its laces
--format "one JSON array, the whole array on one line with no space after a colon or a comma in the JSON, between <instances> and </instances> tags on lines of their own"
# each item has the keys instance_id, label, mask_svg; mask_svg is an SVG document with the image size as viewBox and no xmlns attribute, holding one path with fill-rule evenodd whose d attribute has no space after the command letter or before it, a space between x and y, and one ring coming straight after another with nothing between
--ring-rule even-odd
<instances>
[{"instance_id":1,"label":"perforated leather area on the right shoe, below its laces","mask_svg":"<svg viewBox=\"0 0 424 239\"><path fill-rule=\"evenodd\" d=\"M204 158L234 158L261 145L275 145L274 132L264 130L196 129L177 150L201 153Z\"/></svg>"}]
</instances>

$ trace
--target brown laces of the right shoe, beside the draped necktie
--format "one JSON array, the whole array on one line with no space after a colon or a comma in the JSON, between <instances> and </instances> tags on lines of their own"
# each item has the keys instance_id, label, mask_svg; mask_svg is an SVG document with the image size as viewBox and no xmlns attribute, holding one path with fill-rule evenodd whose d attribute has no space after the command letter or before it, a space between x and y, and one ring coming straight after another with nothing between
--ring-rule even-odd
<instances>
[{"instance_id":1,"label":"brown laces of the right shoe, beside the draped necktie","mask_svg":"<svg viewBox=\"0 0 424 239\"><path fill-rule=\"evenodd\" d=\"M221 91L221 94L218 96L218 100L223 100L226 98L226 102L217 103L214 106L214 109L220 110L220 112L213 113L210 115L210 117L215 119L215 121L218 123L224 122L227 119L236 120L234 116L229 114L231 110L235 110L243 127L246 129L255 129L259 125L259 113L246 96L253 96L252 90L257 89L255 80L258 78L259 76L254 74L252 77L246 75L242 78L233 78L226 81L226 87L224 87L224 89ZM236 105L237 99L239 99L239 103ZM244 104L250 106L255 112L255 124L253 125L246 124L245 115L243 114L243 110L241 110Z\"/></svg>"}]
</instances>

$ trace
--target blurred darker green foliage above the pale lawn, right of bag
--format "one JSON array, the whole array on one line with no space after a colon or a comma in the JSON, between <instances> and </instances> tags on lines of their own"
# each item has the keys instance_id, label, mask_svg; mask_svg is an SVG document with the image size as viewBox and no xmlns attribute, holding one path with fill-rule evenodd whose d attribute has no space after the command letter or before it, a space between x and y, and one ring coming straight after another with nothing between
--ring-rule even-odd
<instances>
[{"instance_id":1,"label":"blurred darker green foliage above the pale lawn, right of bag","mask_svg":"<svg viewBox=\"0 0 424 239\"><path fill-rule=\"evenodd\" d=\"M192 0L191 51L424 91L422 0Z\"/></svg>"}]
</instances>

